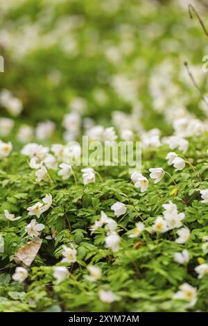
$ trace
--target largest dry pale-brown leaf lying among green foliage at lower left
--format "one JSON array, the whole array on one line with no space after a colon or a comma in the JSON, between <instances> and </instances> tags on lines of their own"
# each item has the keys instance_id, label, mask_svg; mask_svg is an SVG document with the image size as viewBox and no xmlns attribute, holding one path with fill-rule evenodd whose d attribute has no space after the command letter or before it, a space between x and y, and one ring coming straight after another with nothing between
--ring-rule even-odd
<instances>
[{"instance_id":1,"label":"largest dry pale-brown leaf lying among green foliage at lower left","mask_svg":"<svg viewBox=\"0 0 208 326\"><path fill-rule=\"evenodd\" d=\"M36 238L34 241L30 241L26 243L25 246L19 248L14 256L15 263L25 268L31 266L35 256L37 255L37 252L40 249L41 244L42 240Z\"/></svg>"}]
</instances>

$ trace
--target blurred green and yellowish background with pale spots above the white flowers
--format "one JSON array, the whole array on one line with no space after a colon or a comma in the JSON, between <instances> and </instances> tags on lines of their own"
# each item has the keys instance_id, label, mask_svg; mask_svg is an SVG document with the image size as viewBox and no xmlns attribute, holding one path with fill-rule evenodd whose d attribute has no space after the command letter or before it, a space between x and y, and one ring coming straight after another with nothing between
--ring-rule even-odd
<instances>
[{"instance_id":1,"label":"blurred green and yellowish background with pale spots above the white flowers","mask_svg":"<svg viewBox=\"0 0 208 326\"><path fill-rule=\"evenodd\" d=\"M190 19L189 2L1 0L0 91L8 89L23 107L12 117L1 103L0 117L15 121L1 139L16 142L22 125L50 120L56 128L49 141L62 141L63 116L73 110L103 126L114 125L114 111L133 114L136 132L157 127L164 135L172 132L168 108L206 118L183 65L189 62L206 93L208 39L196 16ZM191 3L208 26L207 1Z\"/></svg>"}]
</instances>

